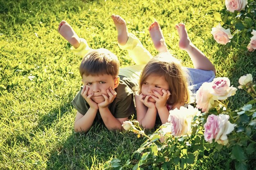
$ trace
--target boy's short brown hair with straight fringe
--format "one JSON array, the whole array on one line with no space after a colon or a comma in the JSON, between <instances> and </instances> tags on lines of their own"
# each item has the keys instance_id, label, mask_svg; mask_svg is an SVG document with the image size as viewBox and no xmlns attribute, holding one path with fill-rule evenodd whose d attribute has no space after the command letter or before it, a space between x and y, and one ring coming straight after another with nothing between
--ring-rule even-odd
<instances>
[{"instance_id":1,"label":"boy's short brown hair with straight fringe","mask_svg":"<svg viewBox=\"0 0 256 170\"><path fill-rule=\"evenodd\" d=\"M92 50L83 57L80 64L80 75L112 75L119 74L120 63L117 56L107 49Z\"/></svg>"}]
</instances>

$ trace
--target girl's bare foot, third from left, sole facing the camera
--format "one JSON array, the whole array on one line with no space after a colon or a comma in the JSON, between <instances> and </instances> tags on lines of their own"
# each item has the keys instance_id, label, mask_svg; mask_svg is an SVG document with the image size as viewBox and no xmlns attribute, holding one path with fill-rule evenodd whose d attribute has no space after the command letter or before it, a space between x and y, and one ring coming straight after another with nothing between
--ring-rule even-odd
<instances>
[{"instance_id":1,"label":"girl's bare foot, third from left, sole facing the camera","mask_svg":"<svg viewBox=\"0 0 256 170\"><path fill-rule=\"evenodd\" d=\"M153 22L149 26L148 30L149 30L150 37L151 37L153 44L154 44L155 48L157 49L157 51L159 53L168 52L167 45L164 40L164 35L162 33L162 30L161 30L161 27L159 26L159 24L156 21Z\"/></svg>"}]
</instances>

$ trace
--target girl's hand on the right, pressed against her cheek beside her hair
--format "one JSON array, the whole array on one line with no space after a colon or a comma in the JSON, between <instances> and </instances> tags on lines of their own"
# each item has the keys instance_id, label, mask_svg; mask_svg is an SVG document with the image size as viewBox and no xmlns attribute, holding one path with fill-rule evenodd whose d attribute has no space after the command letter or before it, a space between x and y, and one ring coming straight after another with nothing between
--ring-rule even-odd
<instances>
[{"instance_id":1,"label":"girl's hand on the right, pressed against her cheek beside her hair","mask_svg":"<svg viewBox=\"0 0 256 170\"><path fill-rule=\"evenodd\" d=\"M171 95L170 91L168 90L166 91L162 89L163 95L160 95L157 91L153 91L153 93L157 96L157 97L155 97L154 95L151 96L156 101L155 102L156 108L166 107L166 102Z\"/></svg>"}]
</instances>

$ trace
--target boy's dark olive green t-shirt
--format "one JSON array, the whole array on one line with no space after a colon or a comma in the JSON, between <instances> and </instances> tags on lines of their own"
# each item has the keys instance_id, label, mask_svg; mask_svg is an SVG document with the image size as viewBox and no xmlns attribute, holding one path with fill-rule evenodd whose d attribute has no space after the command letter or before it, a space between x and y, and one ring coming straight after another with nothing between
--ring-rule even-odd
<instances>
[{"instance_id":1,"label":"boy's dark olive green t-shirt","mask_svg":"<svg viewBox=\"0 0 256 170\"><path fill-rule=\"evenodd\" d=\"M125 118L135 113L134 93L132 91L132 88L135 86L137 86L137 84L132 82L131 79L128 77L120 76L119 85L117 88L115 88L117 96L108 106L110 112L115 118ZM85 113L89 110L90 105L81 95L82 88L83 87L81 87L79 93L72 100L72 104L79 113L85 115ZM101 118L99 110L97 111L97 115L98 118Z\"/></svg>"}]
</instances>

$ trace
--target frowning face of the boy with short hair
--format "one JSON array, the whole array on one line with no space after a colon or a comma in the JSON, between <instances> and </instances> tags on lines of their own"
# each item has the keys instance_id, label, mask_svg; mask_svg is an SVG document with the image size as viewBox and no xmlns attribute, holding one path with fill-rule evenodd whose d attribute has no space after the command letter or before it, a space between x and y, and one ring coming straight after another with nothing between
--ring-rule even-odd
<instances>
[{"instance_id":1,"label":"frowning face of the boy with short hair","mask_svg":"<svg viewBox=\"0 0 256 170\"><path fill-rule=\"evenodd\" d=\"M109 87L115 89L119 84L119 77L113 78L112 75L104 74L104 75L83 75L83 85L89 88L88 94L90 95L94 93L91 99L95 103L101 103L105 101L105 98L102 94L108 96L107 89ZM109 96L108 96L109 97Z\"/></svg>"}]
</instances>

